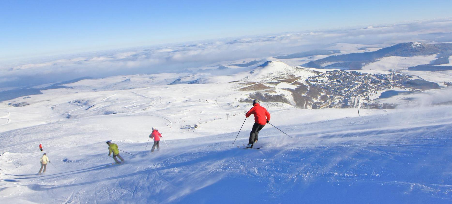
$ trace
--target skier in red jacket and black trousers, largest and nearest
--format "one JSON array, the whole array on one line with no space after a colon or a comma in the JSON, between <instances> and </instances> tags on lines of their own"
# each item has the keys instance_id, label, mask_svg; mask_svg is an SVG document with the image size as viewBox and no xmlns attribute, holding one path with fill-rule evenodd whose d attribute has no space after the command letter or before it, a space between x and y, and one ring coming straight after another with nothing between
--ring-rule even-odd
<instances>
[{"instance_id":1,"label":"skier in red jacket and black trousers, largest and nearest","mask_svg":"<svg viewBox=\"0 0 452 204\"><path fill-rule=\"evenodd\" d=\"M264 128L265 123L270 123L270 114L267 109L260 106L259 100L253 100L253 108L251 108L245 116L248 118L251 114L254 115L254 125L251 129L250 141L246 148L253 148L254 142L257 142L258 140L259 131Z\"/></svg>"}]
</instances>

